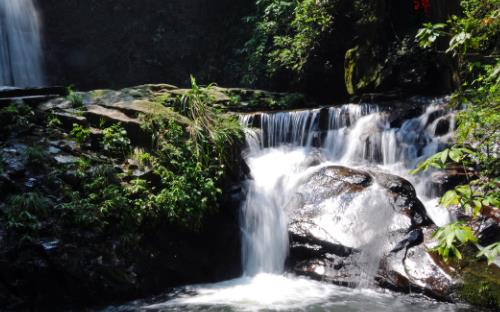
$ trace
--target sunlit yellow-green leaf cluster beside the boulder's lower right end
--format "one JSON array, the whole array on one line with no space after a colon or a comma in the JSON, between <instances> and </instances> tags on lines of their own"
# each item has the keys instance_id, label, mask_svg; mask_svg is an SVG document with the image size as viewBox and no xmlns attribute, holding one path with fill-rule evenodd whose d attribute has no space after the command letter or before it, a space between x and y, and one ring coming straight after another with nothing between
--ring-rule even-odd
<instances>
[{"instance_id":1,"label":"sunlit yellow-green leaf cluster beside the boulder's lower right end","mask_svg":"<svg viewBox=\"0 0 500 312\"><path fill-rule=\"evenodd\" d=\"M437 239L438 245L433 250L437 251L445 262L448 262L450 258L462 259L462 254L457 247L467 243L477 243L477 238L471 228L460 222L439 228L434 233L434 237ZM457 246L457 244L459 245Z\"/></svg>"}]
</instances>

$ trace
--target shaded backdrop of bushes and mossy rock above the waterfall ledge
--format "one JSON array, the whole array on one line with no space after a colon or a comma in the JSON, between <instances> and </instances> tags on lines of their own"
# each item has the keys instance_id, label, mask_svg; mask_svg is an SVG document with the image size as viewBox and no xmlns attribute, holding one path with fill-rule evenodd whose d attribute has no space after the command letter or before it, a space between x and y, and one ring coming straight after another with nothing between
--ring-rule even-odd
<instances>
[{"instance_id":1,"label":"shaded backdrop of bushes and mossy rock above the waterfall ledge","mask_svg":"<svg viewBox=\"0 0 500 312\"><path fill-rule=\"evenodd\" d=\"M414 34L453 5L433 7L430 17L428 1L416 2L257 1L245 19L253 31L241 49L243 83L337 101L375 91L446 91L446 63L419 49Z\"/></svg>"}]
</instances>

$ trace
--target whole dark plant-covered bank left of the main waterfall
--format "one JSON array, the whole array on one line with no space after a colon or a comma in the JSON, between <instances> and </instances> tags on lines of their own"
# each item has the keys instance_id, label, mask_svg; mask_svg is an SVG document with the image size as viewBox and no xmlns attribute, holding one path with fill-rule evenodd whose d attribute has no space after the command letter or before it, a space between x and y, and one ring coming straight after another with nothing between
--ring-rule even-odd
<instances>
[{"instance_id":1,"label":"whole dark plant-covered bank left of the main waterfall","mask_svg":"<svg viewBox=\"0 0 500 312\"><path fill-rule=\"evenodd\" d=\"M149 272L156 258L167 272L173 267L189 276L175 272L183 264L161 257L193 261L179 250L207 230L206 220L239 181L242 131L237 118L214 108L210 88L192 78L182 95L151 102L161 111L137 116L140 142L131 140L125 124L105 118L66 125L60 115L35 113L26 104L0 110L2 301L53 305L57 293L58 304L65 304L141 292L154 280L144 275L162 274ZM81 93L70 91L62 100L73 120L85 114ZM43 280L47 270L56 272L49 281L74 286L30 282ZM176 278L162 282L172 285Z\"/></svg>"}]
</instances>

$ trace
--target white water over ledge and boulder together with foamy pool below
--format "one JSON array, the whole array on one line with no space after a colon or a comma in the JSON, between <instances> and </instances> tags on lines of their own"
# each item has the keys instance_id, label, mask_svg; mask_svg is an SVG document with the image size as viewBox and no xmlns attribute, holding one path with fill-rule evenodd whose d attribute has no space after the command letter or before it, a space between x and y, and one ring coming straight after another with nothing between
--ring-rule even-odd
<instances>
[{"instance_id":1,"label":"white water over ledge and boulder together with foamy pool below","mask_svg":"<svg viewBox=\"0 0 500 312\"><path fill-rule=\"evenodd\" d=\"M436 205L430 176L409 174L419 161L449 143L453 129L453 116L443 109L443 99L423 102L420 116L392 127L390 115L374 104L328 108L326 122L320 109L241 116L247 128L244 157L252 175L241 215L244 275L217 284L182 287L165 297L133 302L119 311L469 310L467 306L395 294L374 285L380 259L394 247L388 233L407 222L398 220L377 184L354 198L336 197L304 208L320 211L314 220L321 229L317 236L361 250L356 261L363 274L357 288L285 272L291 200L304 188L304 177L332 164L405 177L415 186L435 223L450 221L446 210ZM443 118L450 127L437 135L436 125ZM316 159L312 164L311 155Z\"/></svg>"}]
</instances>

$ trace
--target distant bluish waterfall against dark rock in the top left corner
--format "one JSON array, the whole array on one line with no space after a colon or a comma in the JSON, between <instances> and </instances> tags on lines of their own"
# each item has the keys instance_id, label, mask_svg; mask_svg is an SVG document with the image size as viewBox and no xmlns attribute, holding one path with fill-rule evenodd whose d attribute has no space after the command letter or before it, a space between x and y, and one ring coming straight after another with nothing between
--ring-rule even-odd
<instances>
[{"instance_id":1,"label":"distant bluish waterfall against dark rock in the top left corner","mask_svg":"<svg viewBox=\"0 0 500 312\"><path fill-rule=\"evenodd\" d=\"M44 84L40 19L33 0L0 1L0 86Z\"/></svg>"}]
</instances>

